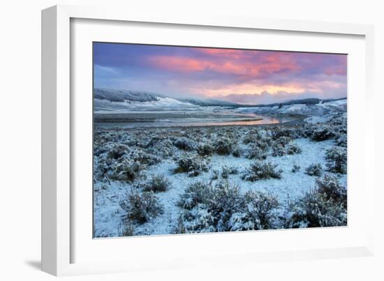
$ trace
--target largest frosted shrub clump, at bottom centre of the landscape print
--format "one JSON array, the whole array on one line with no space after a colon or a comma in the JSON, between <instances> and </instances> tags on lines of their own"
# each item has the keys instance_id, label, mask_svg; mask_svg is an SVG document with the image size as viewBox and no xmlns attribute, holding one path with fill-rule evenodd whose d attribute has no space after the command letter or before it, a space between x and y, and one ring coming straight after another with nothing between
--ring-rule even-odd
<instances>
[{"instance_id":1,"label":"largest frosted shrub clump, at bottom centre of the landscape print","mask_svg":"<svg viewBox=\"0 0 384 281\"><path fill-rule=\"evenodd\" d=\"M177 233L205 231L239 231L274 227L276 197L249 191L242 195L239 186L230 181L216 185L195 183L182 195L183 211Z\"/></svg>"}]
</instances>

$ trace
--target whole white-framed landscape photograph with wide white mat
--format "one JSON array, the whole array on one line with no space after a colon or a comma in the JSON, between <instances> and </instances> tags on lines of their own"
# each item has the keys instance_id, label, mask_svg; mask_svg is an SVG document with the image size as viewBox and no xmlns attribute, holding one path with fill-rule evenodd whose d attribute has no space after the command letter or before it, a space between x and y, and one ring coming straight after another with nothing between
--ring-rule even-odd
<instances>
[{"instance_id":1,"label":"whole white-framed landscape photograph with wide white mat","mask_svg":"<svg viewBox=\"0 0 384 281\"><path fill-rule=\"evenodd\" d=\"M42 25L44 271L372 255L372 26L74 6Z\"/></svg>"}]
</instances>

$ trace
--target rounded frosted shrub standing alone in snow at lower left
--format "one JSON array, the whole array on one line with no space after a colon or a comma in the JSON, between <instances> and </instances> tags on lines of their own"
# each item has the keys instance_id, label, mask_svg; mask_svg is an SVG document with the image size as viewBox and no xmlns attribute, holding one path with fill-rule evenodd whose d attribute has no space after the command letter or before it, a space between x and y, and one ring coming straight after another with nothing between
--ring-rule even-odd
<instances>
[{"instance_id":1,"label":"rounded frosted shrub standing alone in snow at lower left","mask_svg":"<svg viewBox=\"0 0 384 281\"><path fill-rule=\"evenodd\" d=\"M126 219L144 223L163 213L163 206L158 202L154 192L131 191L126 199L120 202L121 208L126 212Z\"/></svg>"}]
</instances>

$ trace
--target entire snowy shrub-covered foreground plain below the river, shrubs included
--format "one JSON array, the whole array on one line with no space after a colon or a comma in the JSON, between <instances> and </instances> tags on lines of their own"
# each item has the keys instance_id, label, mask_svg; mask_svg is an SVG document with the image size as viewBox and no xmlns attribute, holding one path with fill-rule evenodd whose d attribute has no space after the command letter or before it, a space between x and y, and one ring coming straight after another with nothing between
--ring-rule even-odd
<instances>
[{"instance_id":1,"label":"entire snowy shrub-covered foreground plain below the river, shrubs included","mask_svg":"<svg viewBox=\"0 0 384 281\"><path fill-rule=\"evenodd\" d=\"M346 225L346 113L328 110L339 103L316 106L316 123L95 123L94 236Z\"/></svg>"}]
</instances>

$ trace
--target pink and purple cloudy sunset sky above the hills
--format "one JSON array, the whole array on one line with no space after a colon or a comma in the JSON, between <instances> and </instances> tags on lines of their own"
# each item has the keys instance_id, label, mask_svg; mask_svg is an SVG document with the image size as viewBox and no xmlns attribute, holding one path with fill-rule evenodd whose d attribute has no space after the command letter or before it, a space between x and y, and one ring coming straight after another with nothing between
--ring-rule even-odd
<instances>
[{"instance_id":1,"label":"pink and purple cloudy sunset sky above the hills","mask_svg":"<svg viewBox=\"0 0 384 281\"><path fill-rule=\"evenodd\" d=\"M94 43L94 87L255 105L344 98L347 56Z\"/></svg>"}]
</instances>

